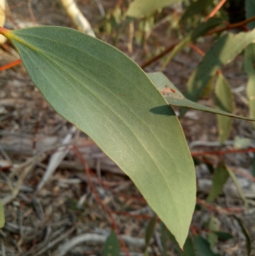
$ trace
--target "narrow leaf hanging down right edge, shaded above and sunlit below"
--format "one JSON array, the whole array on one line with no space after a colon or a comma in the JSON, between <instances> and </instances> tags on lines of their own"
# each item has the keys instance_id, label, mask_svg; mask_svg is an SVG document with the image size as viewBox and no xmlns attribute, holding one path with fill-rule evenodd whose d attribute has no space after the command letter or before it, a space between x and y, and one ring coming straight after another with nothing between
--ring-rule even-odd
<instances>
[{"instance_id":1,"label":"narrow leaf hanging down right edge, shaded above and sunlit below","mask_svg":"<svg viewBox=\"0 0 255 256\"><path fill-rule=\"evenodd\" d=\"M255 118L255 43L251 43L244 52L244 69L248 75L246 87L247 98L249 101L250 116ZM255 123L253 123L255 128Z\"/></svg>"}]
</instances>

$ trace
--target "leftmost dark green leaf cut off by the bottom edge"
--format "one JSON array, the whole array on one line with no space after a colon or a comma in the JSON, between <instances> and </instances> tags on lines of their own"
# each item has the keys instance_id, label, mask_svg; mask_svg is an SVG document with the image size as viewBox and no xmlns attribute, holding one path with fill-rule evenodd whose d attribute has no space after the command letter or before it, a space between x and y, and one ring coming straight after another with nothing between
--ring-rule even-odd
<instances>
[{"instance_id":1,"label":"leftmost dark green leaf cut off by the bottom edge","mask_svg":"<svg viewBox=\"0 0 255 256\"><path fill-rule=\"evenodd\" d=\"M120 243L117 234L112 230L110 236L107 237L103 248L103 256L119 256Z\"/></svg>"}]
</instances>

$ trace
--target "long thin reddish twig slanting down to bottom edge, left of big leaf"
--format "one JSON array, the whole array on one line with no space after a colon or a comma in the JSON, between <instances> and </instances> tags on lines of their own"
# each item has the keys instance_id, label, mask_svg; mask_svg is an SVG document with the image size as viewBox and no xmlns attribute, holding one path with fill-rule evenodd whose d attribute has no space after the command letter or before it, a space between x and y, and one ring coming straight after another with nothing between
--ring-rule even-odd
<instances>
[{"instance_id":1,"label":"long thin reddish twig slanting down to bottom edge, left of big leaf","mask_svg":"<svg viewBox=\"0 0 255 256\"><path fill-rule=\"evenodd\" d=\"M80 162L84 165L85 172L87 174L87 179L88 179L88 183L89 183L89 186L91 188L91 191L94 193L94 196L96 197L96 200L98 200L99 204L103 207L103 209L105 209L105 211L110 216L110 219L111 219L112 225L113 225L113 229L115 229L115 231L118 234L118 237L119 237L119 240L120 240L120 244L122 245L122 248L126 252L126 255L130 256L130 254L128 252L128 248L126 247L122 237L120 236L120 230L119 230L119 227L117 226L117 223L115 222L115 219L114 219L113 214L112 214L112 210L103 203L103 201L101 200L101 198L98 195L98 192L96 192L96 189L94 188L94 185L93 185L93 183L91 181L91 176L90 176L91 170L89 169L89 166L87 165L87 162L85 162L82 154L80 154L80 152L78 151L78 149L76 147L73 147L73 152L75 153L77 158L80 160Z\"/></svg>"}]
</instances>

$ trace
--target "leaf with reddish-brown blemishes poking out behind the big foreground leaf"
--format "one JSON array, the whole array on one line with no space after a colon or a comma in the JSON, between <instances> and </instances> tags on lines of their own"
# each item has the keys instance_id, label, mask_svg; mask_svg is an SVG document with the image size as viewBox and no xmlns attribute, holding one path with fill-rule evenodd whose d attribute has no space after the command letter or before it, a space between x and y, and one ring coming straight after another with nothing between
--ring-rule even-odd
<instances>
[{"instance_id":1,"label":"leaf with reddish-brown blemishes poking out behind the big foreground leaf","mask_svg":"<svg viewBox=\"0 0 255 256\"><path fill-rule=\"evenodd\" d=\"M205 112L211 112L211 113L222 115L222 116L230 116L230 117L235 117L239 119L255 121L255 119L252 119L249 117L237 116L228 112L224 112L219 109L212 109L210 107L206 107L196 102L192 102L191 100L188 100L179 91L179 89L177 89L177 87L175 87L170 82L170 80L161 72L147 73L147 75L152 80L152 82L154 82L157 89L161 91L161 93L164 95L164 97L166 98L166 100L170 105L177 106L177 107L186 107L188 109L196 109L196 110L205 111ZM161 110L161 107L156 107L151 111L157 113L160 110Z\"/></svg>"}]
</instances>

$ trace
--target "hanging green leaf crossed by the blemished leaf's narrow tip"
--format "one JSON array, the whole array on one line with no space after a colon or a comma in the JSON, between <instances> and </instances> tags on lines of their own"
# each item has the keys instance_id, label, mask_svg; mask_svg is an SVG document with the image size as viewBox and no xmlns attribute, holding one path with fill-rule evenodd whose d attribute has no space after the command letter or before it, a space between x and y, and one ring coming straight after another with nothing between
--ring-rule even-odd
<instances>
[{"instance_id":1,"label":"hanging green leaf crossed by the blemished leaf's narrow tip","mask_svg":"<svg viewBox=\"0 0 255 256\"><path fill-rule=\"evenodd\" d=\"M218 75L215 86L215 105L216 108L224 112L233 113L235 108L233 94L230 85L222 74ZM217 116L219 141L224 144L230 136L233 119L227 116Z\"/></svg>"}]
</instances>

